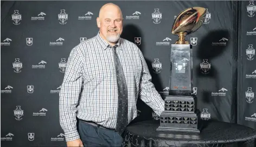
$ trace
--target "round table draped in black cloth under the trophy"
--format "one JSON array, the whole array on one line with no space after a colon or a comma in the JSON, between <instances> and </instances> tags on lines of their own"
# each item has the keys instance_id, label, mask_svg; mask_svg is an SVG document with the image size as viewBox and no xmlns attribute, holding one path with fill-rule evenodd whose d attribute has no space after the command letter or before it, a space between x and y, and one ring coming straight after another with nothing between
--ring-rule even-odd
<instances>
[{"instance_id":1,"label":"round table draped in black cloth under the trophy","mask_svg":"<svg viewBox=\"0 0 256 147\"><path fill-rule=\"evenodd\" d=\"M256 146L256 130L247 126L204 121L201 133L156 131L159 121L127 126L123 146Z\"/></svg>"}]
</instances>

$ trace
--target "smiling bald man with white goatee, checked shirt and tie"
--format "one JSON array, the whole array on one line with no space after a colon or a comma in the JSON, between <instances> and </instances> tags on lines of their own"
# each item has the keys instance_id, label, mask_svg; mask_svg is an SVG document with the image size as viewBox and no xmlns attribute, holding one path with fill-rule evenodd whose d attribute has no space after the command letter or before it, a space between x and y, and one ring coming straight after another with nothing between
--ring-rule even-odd
<instances>
[{"instance_id":1,"label":"smiling bald man with white goatee, checked shirt and tie","mask_svg":"<svg viewBox=\"0 0 256 147\"><path fill-rule=\"evenodd\" d=\"M138 96L157 115L164 111L142 52L120 38L119 6L102 6L97 25L97 36L72 49L61 86L60 124L67 146L121 146L125 126L137 117Z\"/></svg>"}]
</instances>

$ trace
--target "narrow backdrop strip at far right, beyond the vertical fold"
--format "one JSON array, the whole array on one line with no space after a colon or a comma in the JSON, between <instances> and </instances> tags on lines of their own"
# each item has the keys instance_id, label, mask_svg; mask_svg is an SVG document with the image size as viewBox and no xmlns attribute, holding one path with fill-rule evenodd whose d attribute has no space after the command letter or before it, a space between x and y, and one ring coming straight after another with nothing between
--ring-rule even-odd
<instances>
[{"instance_id":1,"label":"narrow backdrop strip at far right, beyond the vertical fold","mask_svg":"<svg viewBox=\"0 0 256 147\"><path fill-rule=\"evenodd\" d=\"M239 3L237 123L256 129L256 1Z\"/></svg>"}]
</instances>

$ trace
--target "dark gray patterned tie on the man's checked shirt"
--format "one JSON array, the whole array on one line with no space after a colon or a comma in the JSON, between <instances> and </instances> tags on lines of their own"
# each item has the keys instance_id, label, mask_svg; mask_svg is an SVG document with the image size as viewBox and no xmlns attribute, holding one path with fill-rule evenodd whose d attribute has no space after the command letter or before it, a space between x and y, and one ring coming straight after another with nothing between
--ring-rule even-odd
<instances>
[{"instance_id":1,"label":"dark gray patterned tie on the man's checked shirt","mask_svg":"<svg viewBox=\"0 0 256 147\"><path fill-rule=\"evenodd\" d=\"M114 64L116 65L117 87L118 87L118 113L116 131L121 135L128 124L128 96L124 71L117 55L118 45L112 47Z\"/></svg>"}]
</instances>

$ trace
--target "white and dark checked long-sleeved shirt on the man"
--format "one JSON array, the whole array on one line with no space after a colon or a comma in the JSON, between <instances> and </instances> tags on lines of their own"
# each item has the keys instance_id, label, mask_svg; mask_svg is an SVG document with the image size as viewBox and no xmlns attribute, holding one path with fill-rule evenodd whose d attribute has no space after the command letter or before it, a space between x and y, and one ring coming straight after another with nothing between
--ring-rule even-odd
<instances>
[{"instance_id":1,"label":"white and dark checked long-sleeved shirt on the man","mask_svg":"<svg viewBox=\"0 0 256 147\"><path fill-rule=\"evenodd\" d=\"M137 117L138 96L160 115L164 101L155 86L142 52L137 45L120 38L117 54L123 66L128 92L129 123ZM72 49L61 85L60 125L66 141L80 138L76 117L115 128L118 91L113 51L98 35Z\"/></svg>"}]
</instances>

